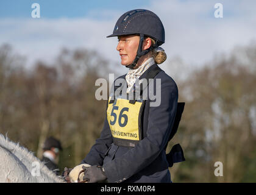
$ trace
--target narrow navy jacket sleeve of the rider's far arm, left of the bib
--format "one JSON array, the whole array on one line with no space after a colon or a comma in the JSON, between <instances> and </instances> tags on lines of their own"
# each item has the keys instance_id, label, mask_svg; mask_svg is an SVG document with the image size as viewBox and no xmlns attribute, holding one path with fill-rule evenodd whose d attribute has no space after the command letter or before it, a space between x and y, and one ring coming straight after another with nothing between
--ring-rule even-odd
<instances>
[{"instance_id":1,"label":"narrow navy jacket sleeve of the rider's far arm, left of the bib","mask_svg":"<svg viewBox=\"0 0 256 195\"><path fill-rule=\"evenodd\" d=\"M102 166L105 157L105 152L107 152L108 148L112 143L113 138L106 116L101 136L96 140L96 143L91 147L90 152L87 154L87 156L84 158L84 160L82 160L80 164L87 163L89 165Z\"/></svg>"}]
</instances>

